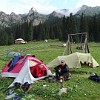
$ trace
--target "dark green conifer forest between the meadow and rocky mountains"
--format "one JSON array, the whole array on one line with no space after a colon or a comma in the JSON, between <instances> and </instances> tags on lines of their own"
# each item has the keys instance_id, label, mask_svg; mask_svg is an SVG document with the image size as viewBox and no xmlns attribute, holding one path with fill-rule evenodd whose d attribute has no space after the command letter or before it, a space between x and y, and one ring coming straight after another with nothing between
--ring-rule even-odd
<instances>
[{"instance_id":1,"label":"dark green conifer forest between the meadow and rocky mountains","mask_svg":"<svg viewBox=\"0 0 100 100\"><path fill-rule=\"evenodd\" d=\"M95 16L72 15L54 18L33 26L32 21L0 27L0 45L14 44L17 38L25 41L59 39L67 41L68 34L88 33L88 41L100 42L100 14ZM77 40L77 39L76 39Z\"/></svg>"}]
</instances>

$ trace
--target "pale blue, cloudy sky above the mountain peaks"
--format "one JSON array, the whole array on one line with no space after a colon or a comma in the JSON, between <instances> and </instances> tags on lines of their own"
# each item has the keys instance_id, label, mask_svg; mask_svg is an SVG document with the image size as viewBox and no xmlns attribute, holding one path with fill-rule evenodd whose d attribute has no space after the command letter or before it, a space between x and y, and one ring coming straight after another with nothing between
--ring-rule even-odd
<instances>
[{"instance_id":1,"label":"pale blue, cloudy sky above the mountain peaks","mask_svg":"<svg viewBox=\"0 0 100 100\"><path fill-rule=\"evenodd\" d=\"M100 0L0 0L0 11L25 14L33 7L41 14L50 14L59 9L77 9L82 5L100 6Z\"/></svg>"}]
</instances>

